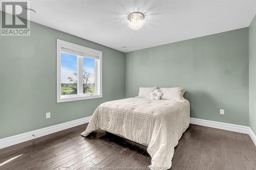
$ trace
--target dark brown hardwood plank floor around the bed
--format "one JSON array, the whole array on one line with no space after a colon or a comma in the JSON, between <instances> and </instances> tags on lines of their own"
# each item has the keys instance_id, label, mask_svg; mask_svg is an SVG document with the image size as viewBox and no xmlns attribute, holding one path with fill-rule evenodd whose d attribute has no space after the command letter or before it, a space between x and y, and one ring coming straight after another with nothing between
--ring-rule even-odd
<instances>
[{"instance_id":1,"label":"dark brown hardwood plank floor around the bed","mask_svg":"<svg viewBox=\"0 0 256 170\"><path fill-rule=\"evenodd\" d=\"M146 147L77 126L0 150L0 169L102 169L151 164ZM8 162L9 161L9 162ZM256 169L256 147L246 134L190 125L175 149L174 169ZM114 168L109 168L114 169Z\"/></svg>"}]
</instances>

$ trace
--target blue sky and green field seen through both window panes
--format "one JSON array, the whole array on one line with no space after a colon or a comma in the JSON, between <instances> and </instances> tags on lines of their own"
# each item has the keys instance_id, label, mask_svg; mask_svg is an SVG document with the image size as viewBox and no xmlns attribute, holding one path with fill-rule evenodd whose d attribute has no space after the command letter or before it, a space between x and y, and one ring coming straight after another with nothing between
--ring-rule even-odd
<instances>
[{"instance_id":1,"label":"blue sky and green field seen through both window panes","mask_svg":"<svg viewBox=\"0 0 256 170\"><path fill-rule=\"evenodd\" d=\"M61 53L61 95L77 94L77 57ZM82 58L82 83L84 94L95 94L95 59Z\"/></svg>"}]
</instances>

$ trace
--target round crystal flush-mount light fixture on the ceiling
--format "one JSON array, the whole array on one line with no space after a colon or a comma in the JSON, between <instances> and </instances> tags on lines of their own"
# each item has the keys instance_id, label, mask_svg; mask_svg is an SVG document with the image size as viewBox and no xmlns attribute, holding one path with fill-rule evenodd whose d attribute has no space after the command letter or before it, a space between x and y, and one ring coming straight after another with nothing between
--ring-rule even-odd
<instances>
[{"instance_id":1,"label":"round crystal flush-mount light fixture on the ceiling","mask_svg":"<svg viewBox=\"0 0 256 170\"><path fill-rule=\"evenodd\" d=\"M141 12L132 12L128 15L128 20L130 21L129 27L132 30L139 30L143 27L143 20L145 16Z\"/></svg>"}]
</instances>

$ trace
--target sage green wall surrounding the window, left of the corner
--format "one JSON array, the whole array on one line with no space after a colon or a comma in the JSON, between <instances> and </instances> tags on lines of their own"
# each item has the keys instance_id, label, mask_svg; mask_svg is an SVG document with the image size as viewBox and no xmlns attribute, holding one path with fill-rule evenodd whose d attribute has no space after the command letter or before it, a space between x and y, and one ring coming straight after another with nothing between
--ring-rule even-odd
<instances>
[{"instance_id":1,"label":"sage green wall surrounding the window, left of the corner","mask_svg":"<svg viewBox=\"0 0 256 170\"><path fill-rule=\"evenodd\" d=\"M31 36L0 36L0 138L86 117L98 106L98 99L56 103L57 38L102 51L100 103L124 98L124 53L31 22Z\"/></svg>"}]
</instances>

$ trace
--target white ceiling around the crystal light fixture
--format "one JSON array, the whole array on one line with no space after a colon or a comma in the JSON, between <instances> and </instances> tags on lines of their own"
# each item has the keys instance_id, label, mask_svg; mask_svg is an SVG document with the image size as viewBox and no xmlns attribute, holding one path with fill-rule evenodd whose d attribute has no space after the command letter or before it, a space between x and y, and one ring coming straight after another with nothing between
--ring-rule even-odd
<instances>
[{"instance_id":1,"label":"white ceiling around the crystal light fixture","mask_svg":"<svg viewBox=\"0 0 256 170\"><path fill-rule=\"evenodd\" d=\"M122 52L245 28L256 0L31 0L31 20ZM128 27L127 15L145 14L144 27ZM126 48L121 48L121 46Z\"/></svg>"}]
</instances>

